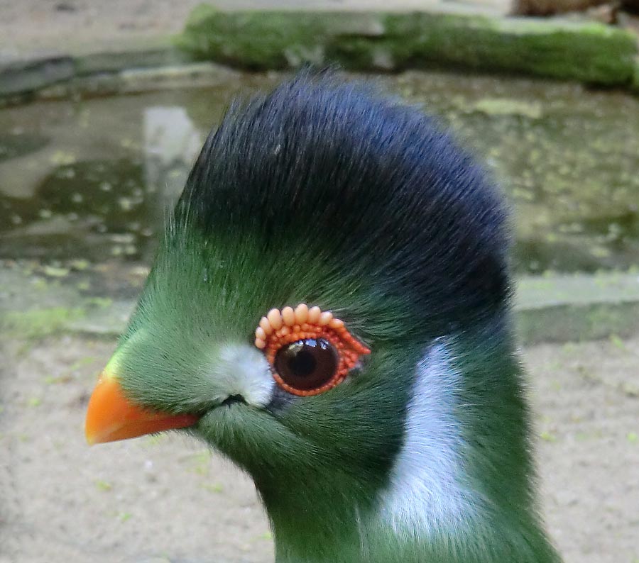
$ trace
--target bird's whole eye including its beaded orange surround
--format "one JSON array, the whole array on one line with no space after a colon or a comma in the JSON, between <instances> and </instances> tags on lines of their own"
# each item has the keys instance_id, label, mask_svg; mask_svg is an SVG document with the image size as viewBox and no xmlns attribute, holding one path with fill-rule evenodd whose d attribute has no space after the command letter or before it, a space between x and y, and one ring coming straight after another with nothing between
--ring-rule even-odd
<instances>
[{"instance_id":1,"label":"bird's whole eye including its beaded orange surround","mask_svg":"<svg viewBox=\"0 0 639 563\"><path fill-rule=\"evenodd\" d=\"M278 385L301 396L332 389L359 357L371 353L342 320L305 303L268 311L255 331L255 345L264 350Z\"/></svg>"}]
</instances>

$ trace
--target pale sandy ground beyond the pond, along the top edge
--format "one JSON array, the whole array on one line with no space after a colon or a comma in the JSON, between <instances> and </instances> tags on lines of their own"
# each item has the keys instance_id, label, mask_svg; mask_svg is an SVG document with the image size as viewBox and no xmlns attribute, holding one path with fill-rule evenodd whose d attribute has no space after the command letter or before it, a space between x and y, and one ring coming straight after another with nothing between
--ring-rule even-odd
<instances>
[{"instance_id":1,"label":"pale sandy ground beyond the pond, along the top edge","mask_svg":"<svg viewBox=\"0 0 639 563\"><path fill-rule=\"evenodd\" d=\"M0 0L0 62L72 50L121 48L178 33L203 0ZM437 10L506 13L510 0L216 0L219 9Z\"/></svg>"}]
</instances>

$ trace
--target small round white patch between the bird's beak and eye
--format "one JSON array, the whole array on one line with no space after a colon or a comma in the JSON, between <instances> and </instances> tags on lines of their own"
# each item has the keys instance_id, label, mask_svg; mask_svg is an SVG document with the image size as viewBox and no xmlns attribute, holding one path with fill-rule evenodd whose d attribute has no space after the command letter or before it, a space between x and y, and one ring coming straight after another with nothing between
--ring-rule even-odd
<instances>
[{"instance_id":1,"label":"small round white patch between the bird's beak and eye","mask_svg":"<svg viewBox=\"0 0 639 563\"><path fill-rule=\"evenodd\" d=\"M241 395L249 405L264 407L271 402L275 380L263 353L246 344L224 345L210 374L216 396L222 402Z\"/></svg>"}]
</instances>

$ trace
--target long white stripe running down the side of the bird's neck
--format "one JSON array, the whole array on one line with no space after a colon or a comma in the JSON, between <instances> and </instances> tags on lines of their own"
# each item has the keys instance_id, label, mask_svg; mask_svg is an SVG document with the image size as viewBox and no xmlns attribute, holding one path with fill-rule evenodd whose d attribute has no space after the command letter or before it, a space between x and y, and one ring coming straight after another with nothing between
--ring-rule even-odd
<instances>
[{"instance_id":1,"label":"long white stripe running down the side of the bird's neck","mask_svg":"<svg viewBox=\"0 0 639 563\"><path fill-rule=\"evenodd\" d=\"M442 528L461 528L475 502L461 485L461 428L454 418L461 376L443 343L431 347L416 370L405 442L390 486L381 495L380 516L395 533L424 537Z\"/></svg>"}]
</instances>

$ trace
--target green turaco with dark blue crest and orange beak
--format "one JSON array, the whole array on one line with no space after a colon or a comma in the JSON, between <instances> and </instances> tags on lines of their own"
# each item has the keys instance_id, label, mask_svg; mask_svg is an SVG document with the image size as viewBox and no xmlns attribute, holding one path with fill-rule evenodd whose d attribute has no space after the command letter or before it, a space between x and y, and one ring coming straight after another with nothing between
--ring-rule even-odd
<instances>
[{"instance_id":1,"label":"green turaco with dark blue crest and orange beak","mask_svg":"<svg viewBox=\"0 0 639 563\"><path fill-rule=\"evenodd\" d=\"M89 442L184 428L278 563L555 563L504 209L417 108L330 73L234 105L166 228Z\"/></svg>"}]
</instances>

